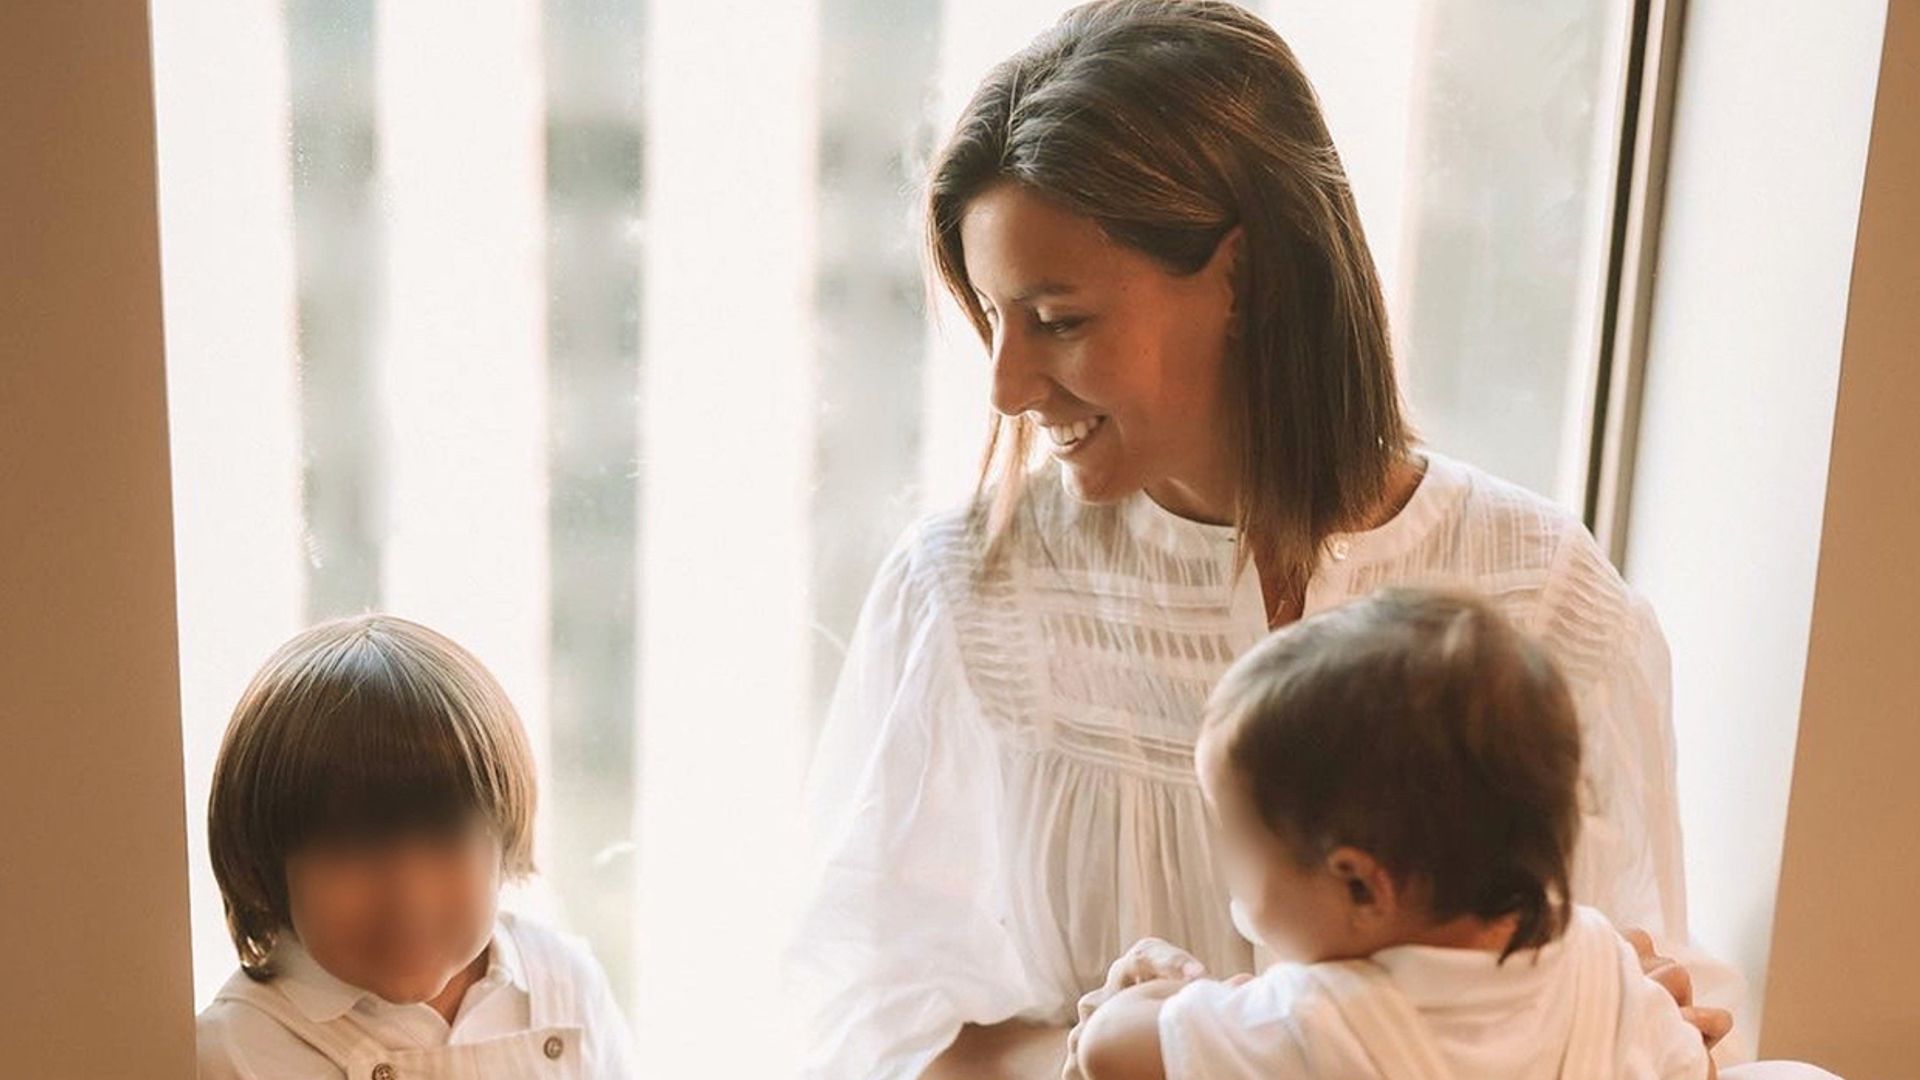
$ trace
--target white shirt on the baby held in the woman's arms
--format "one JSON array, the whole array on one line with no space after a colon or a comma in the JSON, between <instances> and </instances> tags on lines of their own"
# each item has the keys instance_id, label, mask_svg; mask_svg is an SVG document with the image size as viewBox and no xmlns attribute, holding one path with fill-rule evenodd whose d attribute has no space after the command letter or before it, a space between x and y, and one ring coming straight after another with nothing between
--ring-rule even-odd
<instances>
[{"instance_id":1,"label":"white shirt on the baby held in the woman's arms","mask_svg":"<svg viewBox=\"0 0 1920 1080\"><path fill-rule=\"evenodd\" d=\"M1275 965L1238 988L1194 982L1160 1011L1162 1063L1167 1080L1707 1076L1699 1032L1603 915L1578 909L1534 955L1396 945L1346 965ZM1350 982L1315 978L1336 967ZM1434 1068L1398 1049L1409 1043Z\"/></svg>"}]
</instances>

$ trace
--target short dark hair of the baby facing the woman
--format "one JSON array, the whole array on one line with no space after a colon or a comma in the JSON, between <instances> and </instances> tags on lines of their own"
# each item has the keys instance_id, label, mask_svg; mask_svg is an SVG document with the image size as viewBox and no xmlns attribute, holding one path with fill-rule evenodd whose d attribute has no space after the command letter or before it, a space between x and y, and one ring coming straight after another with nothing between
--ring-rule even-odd
<instances>
[{"instance_id":1,"label":"short dark hair of the baby facing the woman","mask_svg":"<svg viewBox=\"0 0 1920 1080\"><path fill-rule=\"evenodd\" d=\"M1296 623L1233 665L1206 723L1302 865L1357 847L1434 919L1517 917L1501 959L1565 930L1580 728L1559 669L1484 600L1388 588Z\"/></svg>"}]
</instances>

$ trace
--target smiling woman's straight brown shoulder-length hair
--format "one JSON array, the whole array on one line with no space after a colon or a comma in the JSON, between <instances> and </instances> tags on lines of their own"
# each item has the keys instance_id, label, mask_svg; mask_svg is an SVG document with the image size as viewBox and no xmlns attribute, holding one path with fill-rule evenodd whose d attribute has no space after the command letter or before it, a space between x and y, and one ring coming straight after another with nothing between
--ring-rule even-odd
<instances>
[{"instance_id":1,"label":"smiling woman's straight brown shoulder-length hair","mask_svg":"<svg viewBox=\"0 0 1920 1080\"><path fill-rule=\"evenodd\" d=\"M960 223L1016 183L1175 275L1242 229L1229 394L1244 402L1236 525L1288 590L1386 494L1411 442L1386 304L1313 86L1258 15L1212 0L1096 0L981 81L927 184L939 281L991 346ZM1035 442L995 417L979 498L998 538ZM989 494L991 492L991 494Z\"/></svg>"}]
</instances>

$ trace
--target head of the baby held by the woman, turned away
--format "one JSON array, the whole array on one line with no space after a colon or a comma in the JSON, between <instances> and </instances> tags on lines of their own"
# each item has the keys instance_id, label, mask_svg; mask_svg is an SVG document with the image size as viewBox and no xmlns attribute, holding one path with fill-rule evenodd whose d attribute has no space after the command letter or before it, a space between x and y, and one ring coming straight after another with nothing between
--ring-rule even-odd
<instances>
[{"instance_id":1,"label":"head of the baby held by the woman, turned away","mask_svg":"<svg viewBox=\"0 0 1920 1080\"><path fill-rule=\"evenodd\" d=\"M1480 600L1392 588L1273 634L1215 688L1196 759L1235 917L1284 959L1450 926L1505 959L1567 924L1572 700Z\"/></svg>"}]
</instances>

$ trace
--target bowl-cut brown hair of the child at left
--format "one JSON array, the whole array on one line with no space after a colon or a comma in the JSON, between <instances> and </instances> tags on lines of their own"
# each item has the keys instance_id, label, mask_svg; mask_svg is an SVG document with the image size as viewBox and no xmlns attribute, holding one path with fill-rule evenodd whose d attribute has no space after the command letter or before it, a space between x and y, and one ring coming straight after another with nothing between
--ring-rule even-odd
<instances>
[{"instance_id":1,"label":"bowl-cut brown hair of the child at left","mask_svg":"<svg viewBox=\"0 0 1920 1080\"><path fill-rule=\"evenodd\" d=\"M207 849L240 969L273 976L288 855L478 817L524 876L534 801L520 719L472 653L392 615L298 634L240 696L213 765Z\"/></svg>"}]
</instances>

